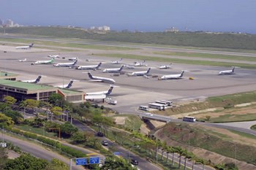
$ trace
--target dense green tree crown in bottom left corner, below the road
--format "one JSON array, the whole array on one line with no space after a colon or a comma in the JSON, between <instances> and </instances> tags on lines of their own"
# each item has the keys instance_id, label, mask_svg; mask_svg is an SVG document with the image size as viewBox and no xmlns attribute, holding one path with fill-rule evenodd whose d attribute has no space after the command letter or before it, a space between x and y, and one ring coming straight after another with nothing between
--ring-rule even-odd
<instances>
[{"instance_id":1,"label":"dense green tree crown in bottom left corner, below the road","mask_svg":"<svg viewBox=\"0 0 256 170\"><path fill-rule=\"evenodd\" d=\"M48 162L40 159L35 158L29 154L20 155L20 157L15 159L10 159L4 166L4 170L42 170L48 166Z\"/></svg>"}]
</instances>

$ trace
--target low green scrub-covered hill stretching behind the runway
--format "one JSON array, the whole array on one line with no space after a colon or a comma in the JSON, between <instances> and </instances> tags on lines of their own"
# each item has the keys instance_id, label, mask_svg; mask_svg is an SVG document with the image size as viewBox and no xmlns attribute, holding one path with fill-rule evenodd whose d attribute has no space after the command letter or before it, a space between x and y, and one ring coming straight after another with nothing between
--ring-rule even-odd
<instances>
[{"instance_id":1,"label":"low green scrub-covered hill stretching behind the runway","mask_svg":"<svg viewBox=\"0 0 256 170\"><path fill-rule=\"evenodd\" d=\"M3 28L0 29L3 32ZM135 42L158 45L191 47L220 47L231 49L256 49L255 34L228 34L205 32L93 32L82 28L20 27L6 28L8 34L28 34L56 38L94 39L111 42Z\"/></svg>"}]
</instances>

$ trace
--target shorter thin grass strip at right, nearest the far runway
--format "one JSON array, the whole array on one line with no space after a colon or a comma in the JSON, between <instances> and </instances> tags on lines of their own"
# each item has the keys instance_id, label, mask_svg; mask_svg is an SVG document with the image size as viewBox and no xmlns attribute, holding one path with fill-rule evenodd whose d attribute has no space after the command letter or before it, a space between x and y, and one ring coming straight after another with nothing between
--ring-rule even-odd
<instances>
[{"instance_id":1,"label":"shorter thin grass strip at right, nearest the far runway","mask_svg":"<svg viewBox=\"0 0 256 170\"><path fill-rule=\"evenodd\" d=\"M208 53L186 53L186 52L155 52L160 55L174 55L174 56L185 56L191 58L218 58L225 60L236 60L236 61L256 61L255 57L238 56L238 55L220 55L220 54L208 54Z\"/></svg>"}]
</instances>

